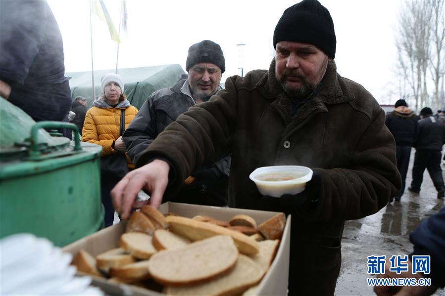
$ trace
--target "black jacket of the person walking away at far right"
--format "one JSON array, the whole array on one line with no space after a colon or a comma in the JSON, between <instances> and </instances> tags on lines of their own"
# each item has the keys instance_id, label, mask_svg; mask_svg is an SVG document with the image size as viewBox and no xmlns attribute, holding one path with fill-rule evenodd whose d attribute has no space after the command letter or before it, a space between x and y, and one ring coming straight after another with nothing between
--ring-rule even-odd
<instances>
[{"instance_id":1,"label":"black jacket of the person walking away at far right","mask_svg":"<svg viewBox=\"0 0 445 296\"><path fill-rule=\"evenodd\" d=\"M419 129L413 147L416 150L439 150L445 144L445 124L434 116L418 121Z\"/></svg>"}]
</instances>

